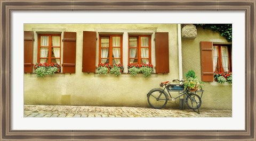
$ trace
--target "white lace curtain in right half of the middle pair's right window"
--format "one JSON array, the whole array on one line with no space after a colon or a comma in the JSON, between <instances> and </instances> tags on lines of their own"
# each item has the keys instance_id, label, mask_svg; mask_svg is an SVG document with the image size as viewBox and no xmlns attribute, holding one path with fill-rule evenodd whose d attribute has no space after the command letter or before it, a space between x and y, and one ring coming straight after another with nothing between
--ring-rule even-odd
<instances>
[{"instance_id":1,"label":"white lace curtain in right half of the middle pair's right window","mask_svg":"<svg viewBox=\"0 0 256 141\"><path fill-rule=\"evenodd\" d=\"M148 47L149 42L148 42L148 37L141 37L140 38L141 42L141 47ZM149 58L149 49L148 48L141 48L141 58ZM149 59L141 59L142 63L148 64Z\"/></svg>"}]
</instances>

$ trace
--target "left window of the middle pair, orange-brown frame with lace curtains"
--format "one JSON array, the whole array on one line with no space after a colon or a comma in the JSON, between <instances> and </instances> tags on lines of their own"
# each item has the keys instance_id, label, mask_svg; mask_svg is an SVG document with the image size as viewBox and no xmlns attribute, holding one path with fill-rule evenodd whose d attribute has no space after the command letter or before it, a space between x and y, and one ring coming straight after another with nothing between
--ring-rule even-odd
<instances>
[{"instance_id":1,"label":"left window of the middle pair, orange-brown frame with lace curtains","mask_svg":"<svg viewBox=\"0 0 256 141\"><path fill-rule=\"evenodd\" d=\"M104 64L122 64L122 35L100 35L99 38L99 62Z\"/></svg>"}]
</instances>

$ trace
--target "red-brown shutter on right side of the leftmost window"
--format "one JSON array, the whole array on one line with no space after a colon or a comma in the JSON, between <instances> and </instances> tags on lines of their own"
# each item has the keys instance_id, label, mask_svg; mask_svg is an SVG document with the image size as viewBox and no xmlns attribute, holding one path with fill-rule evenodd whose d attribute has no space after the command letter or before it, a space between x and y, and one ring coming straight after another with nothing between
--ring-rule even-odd
<instances>
[{"instance_id":1,"label":"red-brown shutter on right side of the leftmost window","mask_svg":"<svg viewBox=\"0 0 256 141\"><path fill-rule=\"evenodd\" d=\"M76 32L64 32L62 73L76 72Z\"/></svg>"}]
</instances>

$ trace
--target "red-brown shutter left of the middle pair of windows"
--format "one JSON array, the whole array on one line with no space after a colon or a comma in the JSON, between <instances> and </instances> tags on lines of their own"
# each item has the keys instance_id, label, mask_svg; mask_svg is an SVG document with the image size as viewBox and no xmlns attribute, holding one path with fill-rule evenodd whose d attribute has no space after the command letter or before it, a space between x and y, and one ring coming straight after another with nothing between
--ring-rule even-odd
<instances>
[{"instance_id":1,"label":"red-brown shutter left of the middle pair of windows","mask_svg":"<svg viewBox=\"0 0 256 141\"><path fill-rule=\"evenodd\" d=\"M96 40L96 32L84 31L82 72L95 73Z\"/></svg>"}]
</instances>

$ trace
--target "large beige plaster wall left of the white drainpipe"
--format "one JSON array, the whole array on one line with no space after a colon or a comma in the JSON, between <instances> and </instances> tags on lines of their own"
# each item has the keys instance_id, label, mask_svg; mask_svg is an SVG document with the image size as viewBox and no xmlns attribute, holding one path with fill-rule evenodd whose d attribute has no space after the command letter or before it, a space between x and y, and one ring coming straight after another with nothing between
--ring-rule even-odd
<instances>
[{"instance_id":1,"label":"large beige plaster wall left of the white drainpipe","mask_svg":"<svg viewBox=\"0 0 256 141\"><path fill-rule=\"evenodd\" d=\"M149 107L146 96L149 90L159 87L162 81L179 78L177 24L25 24L24 30L34 33L46 30L77 32L76 73L44 78L24 74L25 104ZM153 74L149 78L130 74L116 77L111 74L82 73L83 31L123 30L169 32L170 73ZM178 104L167 106L179 107Z\"/></svg>"}]
</instances>

